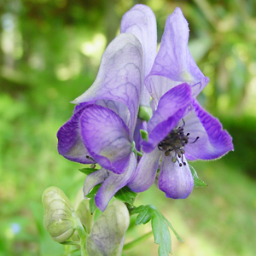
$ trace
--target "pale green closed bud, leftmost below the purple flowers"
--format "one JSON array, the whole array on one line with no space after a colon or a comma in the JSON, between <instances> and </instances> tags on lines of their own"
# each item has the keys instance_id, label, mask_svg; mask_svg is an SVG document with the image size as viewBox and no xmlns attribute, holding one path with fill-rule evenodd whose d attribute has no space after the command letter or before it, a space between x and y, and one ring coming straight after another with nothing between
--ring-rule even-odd
<instances>
[{"instance_id":1,"label":"pale green closed bud, leftmost below the purple flowers","mask_svg":"<svg viewBox=\"0 0 256 256\"><path fill-rule=\"evenodd\" d=\"M56 187L44 190L42 201L44 205L44 228L54 241L67 241L78 226L80 220L67 195Z\"/></svg>"}]
</instances>

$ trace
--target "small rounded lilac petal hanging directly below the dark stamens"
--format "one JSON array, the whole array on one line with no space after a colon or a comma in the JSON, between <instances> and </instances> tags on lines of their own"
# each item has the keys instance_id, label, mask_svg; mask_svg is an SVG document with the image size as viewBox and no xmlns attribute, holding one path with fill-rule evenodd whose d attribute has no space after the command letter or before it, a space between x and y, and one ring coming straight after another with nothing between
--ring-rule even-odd
<instances>
[{"instance_id":1,"label":"small rounded lilac petal hanging directly below the dark stamens","mask_svg":"<svg viewBox=\"0 0 256 256\"><path fill-rule=\"evenodd\" d=\"M160 164L159 189L166 193L166 197L185 199L194 187L194 179L189 165L183 156L185 166L172 162L172 155L163 154Z\"/></svg>"}]
</instances>

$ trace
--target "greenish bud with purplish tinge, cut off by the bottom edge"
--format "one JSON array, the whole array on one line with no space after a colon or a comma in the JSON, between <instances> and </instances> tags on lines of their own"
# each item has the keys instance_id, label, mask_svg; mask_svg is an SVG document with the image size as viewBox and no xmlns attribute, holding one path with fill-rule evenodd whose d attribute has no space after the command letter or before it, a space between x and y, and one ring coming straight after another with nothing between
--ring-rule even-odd
<instances>
[{"instance_id":1,"label":"greenish bud with purplish tinge, cut off by the bottom edge","mask_svg":"<svg viewBox=\"0 0 256 256\"><path fill-rule=\"evenodd\" d=\"M86 240L89 256L120 256L130 216L125 204L113 201L97 218Z\"/></svg>"}]
</instances>

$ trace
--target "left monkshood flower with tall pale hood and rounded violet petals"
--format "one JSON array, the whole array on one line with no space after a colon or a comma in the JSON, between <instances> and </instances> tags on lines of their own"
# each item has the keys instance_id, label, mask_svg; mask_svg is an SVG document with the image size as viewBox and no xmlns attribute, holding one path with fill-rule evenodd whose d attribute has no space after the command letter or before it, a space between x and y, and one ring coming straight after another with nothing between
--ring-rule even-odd
<instances>
[{"instance_id":1,"label":"left monkshood flower with tall pale hood and rounded violet petals","mask_svg":"<svg viewBox=\"0 0 256 256\"><path fill-rule=\"evenodd\" d=\"M57 133L59 154L68 160L102 166L84 183L84 195L92 188L90 184L102 183L96 195L96 206L102 211L136 168L133 134L142 73L141 44L132 34L120 34L102 55L96 81L73 101L79 105Z\"/></svg>"}]
</instances>

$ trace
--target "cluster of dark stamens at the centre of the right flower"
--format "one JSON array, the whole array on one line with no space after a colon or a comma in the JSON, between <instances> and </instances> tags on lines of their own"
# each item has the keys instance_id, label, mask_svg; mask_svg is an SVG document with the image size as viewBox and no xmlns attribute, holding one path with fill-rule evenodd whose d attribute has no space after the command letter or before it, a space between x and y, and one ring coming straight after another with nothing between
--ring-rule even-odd
<instances>
[{"instance_id":1,"label":"cluster of dark stamens at the centre of the right flower","mask_svg":"<svg viewBox=\"0 0 256 256\"><path fill-rule=\"evenodd\" d=\"M183 120L183 119L182 119ZM186 166L186 162L183 160L183 154L185 154L184 146L189 143L189 133L184 134L183 125L178 128L174 128L169 134L158 144L158 149L164 151L166 156L172 156L172 162L178 163L179 166ZM199 137L196 137L195 143Z\"/></svg>"}]
</instances>

